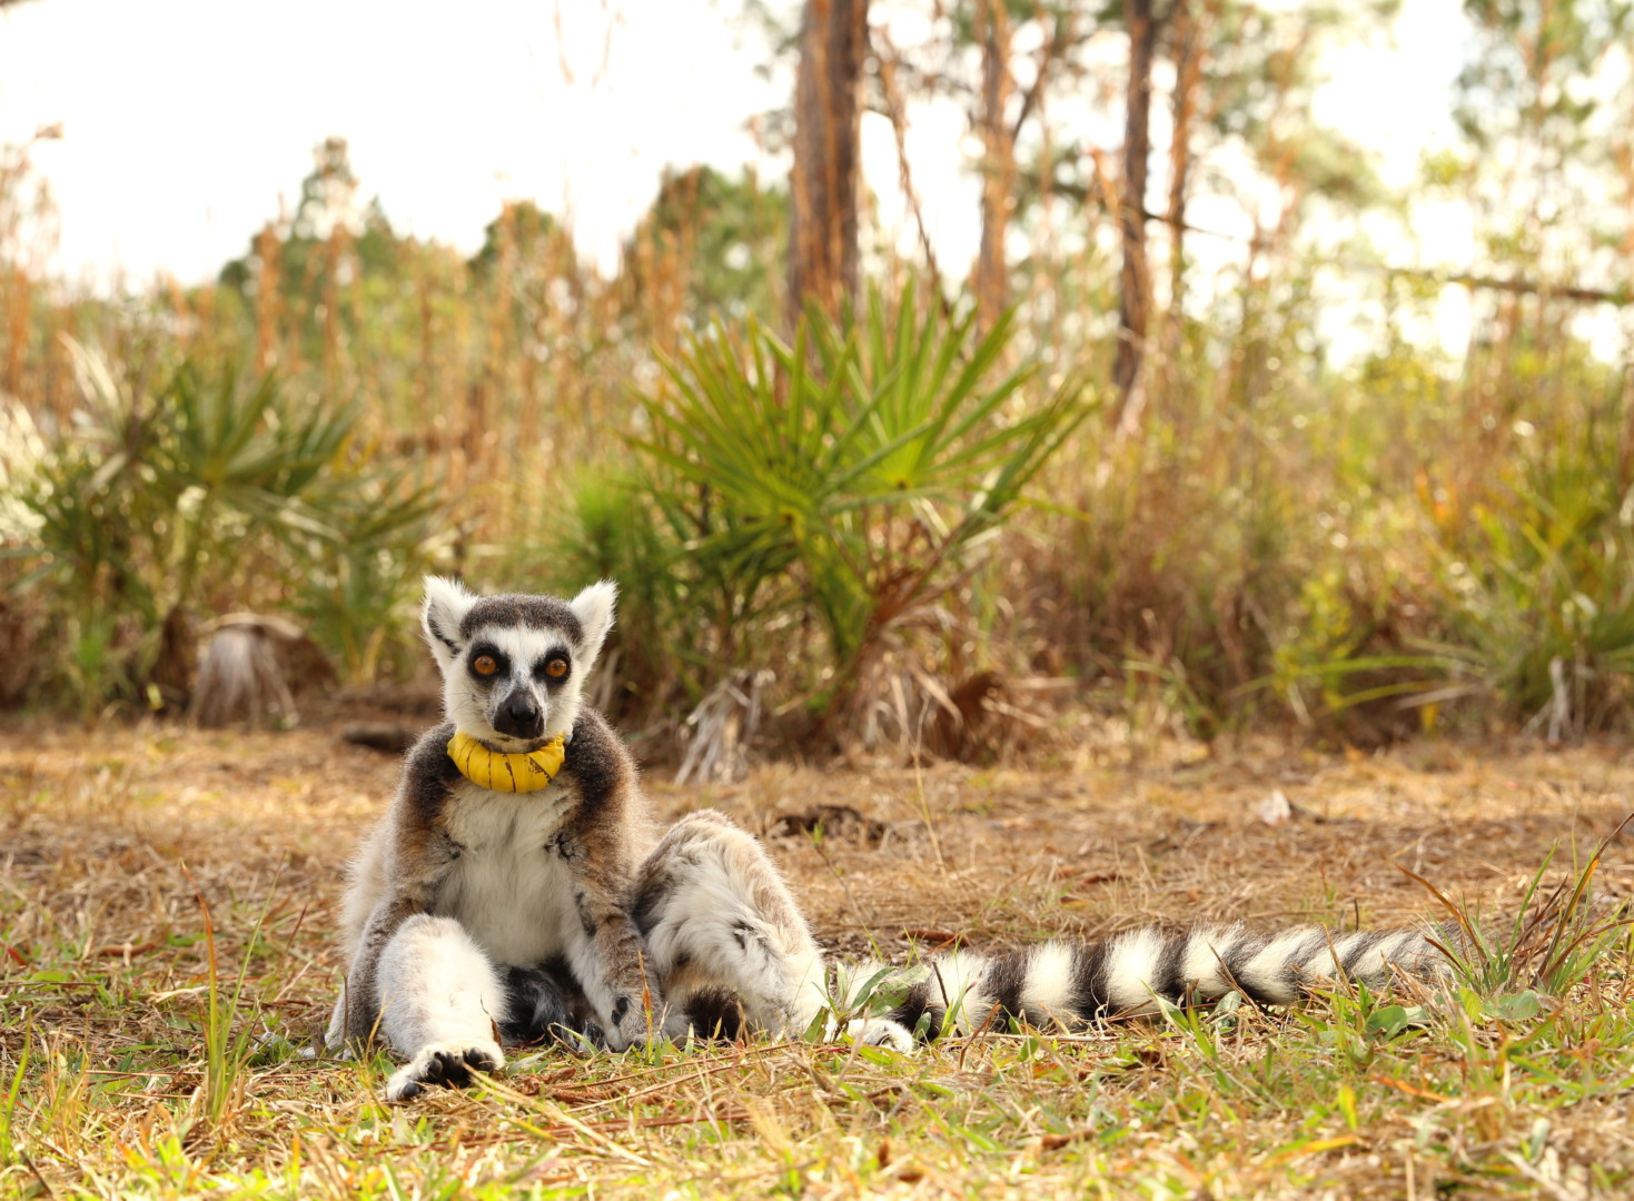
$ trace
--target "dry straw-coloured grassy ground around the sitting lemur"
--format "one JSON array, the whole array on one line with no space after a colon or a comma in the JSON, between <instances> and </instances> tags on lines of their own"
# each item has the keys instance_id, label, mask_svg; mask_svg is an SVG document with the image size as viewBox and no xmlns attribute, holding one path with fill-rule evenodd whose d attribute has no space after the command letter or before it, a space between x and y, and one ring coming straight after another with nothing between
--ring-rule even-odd
<instances>
[{"instance_id":1,"label":"dry straw-coloured grassy ground around the sitting lemur","mask_svg":"<svg viewBox=\"0 0 1634 1201\"><path fill-rule=\"evenodd\" d=\"M1552 881L1634 797L1621 747L1119 760L649 786L665 817L714 806L763 832L837 951L894 956L953 933L1441 917L1395 864L1513 915L1551 846ZM1577 1198L1634 1180L1623 943L1560 1002L1525 982L1340 992L915 1057L541 1052L408 1106L376 1101L384 1060L239 1054L240 1034L304 1043L327 1016L340 866L394 776L328 730L0 730L0 1196ZM1275 827L1273 791L1294 807ZM822 806L850 812L801 832ZM209 1020L194 884L221 989L242 977L230 1029ZM1596 892L1631 891L1618 843Z\"/></svg>"}]
</instances>

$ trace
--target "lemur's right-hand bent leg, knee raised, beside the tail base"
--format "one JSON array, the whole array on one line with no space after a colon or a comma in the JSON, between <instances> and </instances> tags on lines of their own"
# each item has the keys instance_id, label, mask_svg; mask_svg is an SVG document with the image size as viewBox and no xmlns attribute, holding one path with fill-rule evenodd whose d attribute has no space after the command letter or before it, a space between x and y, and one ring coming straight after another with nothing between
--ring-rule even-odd
<instances>
[{"instance_id":1,"label":"lemur's right-hand bent leg, knee raised, beside the tail base","mask_svg":"<svg viewBox=\"0 0 1634 1201\"><path fill-rule=\"evenodd\" d=\"M824 958L806 918L760 842L722 814L675 824L641 868L632 913L663 980L672 1038L709 1033L722 998L753 1026L794 1038L822 1011Z\"/></svg>"}]
</instances>

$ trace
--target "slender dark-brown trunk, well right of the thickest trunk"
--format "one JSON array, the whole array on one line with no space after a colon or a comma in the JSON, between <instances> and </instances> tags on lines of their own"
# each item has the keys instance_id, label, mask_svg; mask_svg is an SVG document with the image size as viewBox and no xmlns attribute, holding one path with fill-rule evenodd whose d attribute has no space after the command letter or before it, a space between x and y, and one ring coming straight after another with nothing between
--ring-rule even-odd
<instances>
[{"instance_id":1,"label":"slender dark-brown trunk, well right of the thickest trunk","mask_svg":"<svg viewBox=\"0 0 1634 1201\"><path fill-rule=\"evenodd\" d=\"M1124 0L1129 29L1129 90L1124 119L1124 163L1119 225L1123 270L1118 276L1118 358L1113 384L1118 389L1116 428L1131 435L1139 428L1145 407L1141 368L1152 310L1152 279L1145 260L1145 168L1152 154L1152 59L1162 21L1152 0Z\"/></svg>"}]
</instances>

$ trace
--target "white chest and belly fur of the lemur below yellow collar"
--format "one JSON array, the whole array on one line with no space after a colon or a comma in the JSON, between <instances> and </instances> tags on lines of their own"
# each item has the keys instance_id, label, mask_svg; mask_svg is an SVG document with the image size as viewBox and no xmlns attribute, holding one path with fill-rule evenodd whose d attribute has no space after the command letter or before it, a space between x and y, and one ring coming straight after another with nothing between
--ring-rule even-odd
<instances>
[{"instance_id":1,"label":"white chest and belly fur of the lemur below yellow collar","mask_svg":"<svg viewBox=\"0 0 1634 1201\"><path fill-rule=\"evenodd\" d=\"M569 804L560 788L511 794L461 781L456 789L448 832L462 850L436 912L502 964L562 954L578 928L567 864L546 850Z\"/></svg>"}]
</instances>

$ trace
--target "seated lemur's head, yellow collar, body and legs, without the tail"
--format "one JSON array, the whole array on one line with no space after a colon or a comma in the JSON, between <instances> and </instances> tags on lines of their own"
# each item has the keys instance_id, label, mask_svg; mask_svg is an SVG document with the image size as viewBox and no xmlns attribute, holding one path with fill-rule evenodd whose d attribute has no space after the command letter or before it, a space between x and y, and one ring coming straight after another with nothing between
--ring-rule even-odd
<instances>
[{"instance_id":1,"label":"seated lemur's head, yellow collar, body and legs, without the tail","mask_svg":"<svg viewBox=\"0 0 1634 1201\"><path fill-rule=\"evenodd\" d=\"M822 953L755 838L703 812L659 840L629 752L582 703L614 595L426 580L448 722L353 863L327 1036L408 1056L392 1100L500 1067L502 1039L569 1028L618 1051L714 1026L727 989L796 1034L824 1003Z\"/></svg>"}]
</instances>

